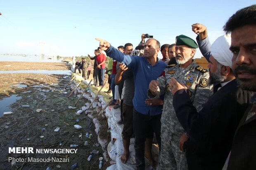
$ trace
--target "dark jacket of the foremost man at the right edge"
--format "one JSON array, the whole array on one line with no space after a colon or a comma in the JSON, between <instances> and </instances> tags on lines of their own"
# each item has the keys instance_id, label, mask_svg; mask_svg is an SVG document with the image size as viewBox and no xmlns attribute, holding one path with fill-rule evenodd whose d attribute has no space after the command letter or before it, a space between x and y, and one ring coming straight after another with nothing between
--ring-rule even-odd
<instances>
[{"instance_id":1,"label":"dark jacket of the foremost man at the right edge","mask_svg":"<svg viewBox=\"0 0 256 170\"><path fill-rule=\"evenodd\" d=\"M254 104L245 112L235 133L228 170L256 169L256 94L252 99ZM252 113L249 119L248 113Z\"/></svg>"}]
</instances>

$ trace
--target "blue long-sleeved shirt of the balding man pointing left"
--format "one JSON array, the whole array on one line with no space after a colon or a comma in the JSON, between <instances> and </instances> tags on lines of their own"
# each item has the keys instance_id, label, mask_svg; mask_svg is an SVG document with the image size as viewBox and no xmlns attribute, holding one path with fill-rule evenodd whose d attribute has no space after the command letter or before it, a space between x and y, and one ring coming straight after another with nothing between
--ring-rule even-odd
<instances>
[{"instance_id":1,"label":"blue long-sleeved shirt of the balding man pointing left","mask_svg":"<svg viewBox=\"0 0 256 170\"><path fill-rule=\"evenodd\" d=\"M156 80L166 67L166 63L159 61L155 65L151 65L144 56L129 56L110 46L106 51L107 56L114 58L128 67L133 69L133 79L135 92L133 97L133 107L137 112L149 114L151 116L161 114L163 106L148 106L145 103L147 97L147 89L152 80Z\"/></svg>"}]
</instances>

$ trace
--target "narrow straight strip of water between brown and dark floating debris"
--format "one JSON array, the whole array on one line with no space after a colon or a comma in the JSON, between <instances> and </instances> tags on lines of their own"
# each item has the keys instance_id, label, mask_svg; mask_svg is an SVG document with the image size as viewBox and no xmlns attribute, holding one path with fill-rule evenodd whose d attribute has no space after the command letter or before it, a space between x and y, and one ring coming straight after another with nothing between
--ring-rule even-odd
<instances>
[{"instance_id":1,"label":"narrow straight strip of water between brown and dark floating debris","mask_svg":"<svg viewBox=\"0 0 256 170\"><path fill-rule=\"evenodd\" d=\"M0 70L0 73L37 73L51 75L70 75L71 70Z\"/></svg>"}]
</instances>

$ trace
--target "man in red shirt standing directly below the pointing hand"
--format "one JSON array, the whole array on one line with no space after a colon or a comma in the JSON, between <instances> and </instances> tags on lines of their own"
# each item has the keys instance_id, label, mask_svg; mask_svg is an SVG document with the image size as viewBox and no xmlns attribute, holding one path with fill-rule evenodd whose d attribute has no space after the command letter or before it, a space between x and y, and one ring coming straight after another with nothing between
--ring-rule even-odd
<instances>
[{"instance_id":1,"label":"man in red shirt standing directly below the pointing hand","mask_svg":"<svg viewBox=\"0 0 256 170\"><path fill-rule=\"evenodd\" d=\"M104 72L105 72L105 62L106 56L102 53L100 47L98 47L99 53L97 55L97 70L98 70L98 77L99 77L99 85L102 86L104 82Z\"/></svg>"}]
</instances>

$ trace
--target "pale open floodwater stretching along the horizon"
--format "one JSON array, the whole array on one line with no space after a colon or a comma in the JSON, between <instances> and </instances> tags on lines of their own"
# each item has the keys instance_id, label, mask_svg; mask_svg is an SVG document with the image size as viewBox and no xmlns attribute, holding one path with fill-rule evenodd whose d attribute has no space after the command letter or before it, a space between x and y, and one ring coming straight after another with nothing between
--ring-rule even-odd
<instances>
[{"instance_id":1,"label":"pale open floodwater stretching along the horizon","mask_svg":"<svg viewBox=\"0 0 256 170\"><path fill-rule=\"evenodd\" d=\"M63 58L57 58L57 56L34 56L34 55L0 55L0 61L26 61L26 62L53 62L60 63Z\"/></svg>"}]
</instances>

